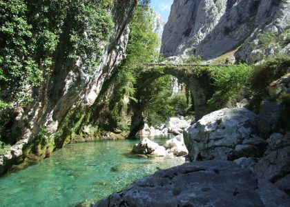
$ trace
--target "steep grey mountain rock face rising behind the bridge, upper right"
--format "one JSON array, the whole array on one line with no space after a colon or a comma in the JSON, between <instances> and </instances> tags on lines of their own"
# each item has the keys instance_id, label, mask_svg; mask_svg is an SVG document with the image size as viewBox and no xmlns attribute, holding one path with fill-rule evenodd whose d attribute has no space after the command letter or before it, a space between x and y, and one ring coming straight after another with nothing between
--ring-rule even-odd
<instances>
[{"instance_id":1,"label":"steep grey mountain rock face rising behind the bridge, upper right","mask_svg":"<svg viewBox=\"0 0 290 207\"><path fill-rule=\"evenodd\" d=\"M175 0L164 27L161 53L164 57L201 55L213 59L242 47L238 59L255 63L264 55L289 54L289 46L257 49L261 32L280 34L289 28L289 0Z\"/></svg>"}]
</instances>

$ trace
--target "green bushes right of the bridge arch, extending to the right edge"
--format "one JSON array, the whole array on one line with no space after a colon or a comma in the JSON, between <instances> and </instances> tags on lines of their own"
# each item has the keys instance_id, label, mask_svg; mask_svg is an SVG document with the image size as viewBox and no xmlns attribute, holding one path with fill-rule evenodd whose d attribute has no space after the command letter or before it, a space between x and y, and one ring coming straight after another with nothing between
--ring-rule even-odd
<instances>
[{"instance_id":1,"label":"green bushes right of the bridge arch, extending to the right edge","mask_svg":"<svg viewBox=\"0 0 290 207\"><path fill-rule=\"evenodd\" d=\"M249 101L247 107L259 112L262 102L269 97L270 84L286 75L289 68L290 58L287 55L271 57L260 65L240 64L213 68L213 85L217 88L209 100L209 107L211 110L234 107L235 103L246 99ZM288 103L287 97L274 101L284 105Z\"/></svg>"}]
</instances>

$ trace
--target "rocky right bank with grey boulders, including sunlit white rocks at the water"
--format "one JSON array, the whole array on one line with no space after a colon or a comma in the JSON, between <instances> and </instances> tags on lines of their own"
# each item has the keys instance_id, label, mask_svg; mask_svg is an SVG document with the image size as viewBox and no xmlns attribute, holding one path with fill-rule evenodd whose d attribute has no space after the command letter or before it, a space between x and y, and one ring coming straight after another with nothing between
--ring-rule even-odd
<instances>
[{"instance_id":1,"label":"rocky right bank with grey boulders, including sunlit white rocks at the water","mask_svg":"<svg viewBox=\"0 0 290 207\"><path fill-rule=\"evenodd\" d=\"M139 179L94 206L289 206L290 133L264 139L261 117L246 108L224 108L164 146L143 139L133 152L179 156L174 151L184 137L193 162Z\"/></svg>"}]
</instances>

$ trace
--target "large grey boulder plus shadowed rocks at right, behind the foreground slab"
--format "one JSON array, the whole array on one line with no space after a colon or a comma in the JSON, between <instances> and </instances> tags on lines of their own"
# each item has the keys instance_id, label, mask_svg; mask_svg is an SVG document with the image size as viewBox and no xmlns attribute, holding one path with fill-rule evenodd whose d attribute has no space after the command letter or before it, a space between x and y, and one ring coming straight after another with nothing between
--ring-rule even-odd
<instances>
[{"instance_id":1,"label":"large grey boulder plus shadowed rocks at right, behind the foreground slab","mask_svg":"<svg viewBox=\"0 0 290 207\"><path fill-rule=\"evenodd\" d=\"M256 120L260 118L245 108L224 108L204 116L184 130L189 158L234 160L289 193L290 132L262 139L256 135Z\"/></svg>"}]
</instances>

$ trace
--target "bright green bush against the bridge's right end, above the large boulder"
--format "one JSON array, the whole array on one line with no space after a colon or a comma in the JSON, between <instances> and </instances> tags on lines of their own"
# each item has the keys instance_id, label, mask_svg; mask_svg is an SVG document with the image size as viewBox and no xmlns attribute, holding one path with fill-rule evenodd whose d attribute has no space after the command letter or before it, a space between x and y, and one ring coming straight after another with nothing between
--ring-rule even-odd
<instances>
[{"instance_id":1,"label":"bright green bush against the bridge's right end, above the large boulder","mask_svg":"<svg viewBox=\"0 0 290 207\"><path fill-rule=\"evenodd\" d=\"M215 68L213 85L217 90L208 101L211 110L223 108L226 103L237 99L243 91L249 90L252 71L252 67L246 64Z\"/></svg>"}]
</instances>

